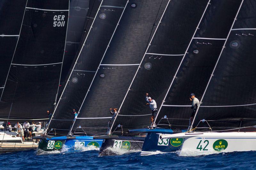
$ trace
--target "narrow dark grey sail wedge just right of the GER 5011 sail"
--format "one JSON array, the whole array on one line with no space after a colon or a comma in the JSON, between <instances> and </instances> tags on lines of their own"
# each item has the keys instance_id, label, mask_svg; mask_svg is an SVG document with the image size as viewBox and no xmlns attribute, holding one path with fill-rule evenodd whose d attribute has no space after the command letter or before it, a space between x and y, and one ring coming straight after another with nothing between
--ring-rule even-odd
<instances>
[{"instance_id":1,"label":"narrow dark grey sail wedge just right of the GER 5011 sail","mask_svg":"<svg viewBox=\"0 0 256 170\"><path fill-rule=\"evenodd\" d=\"M66 47L63 57L60 85L58 96L56 95L56 103L65 87L68 79L68 73L72 70L73 60L76 59L82 39L88 33L87 29L92 24L92 16L95 11L92 7L100 4L100 1L95 0L71 0L69 2L68 30L66 38ZM98 10L99 5L96 7Z\"/></svg>"}]
</instances>

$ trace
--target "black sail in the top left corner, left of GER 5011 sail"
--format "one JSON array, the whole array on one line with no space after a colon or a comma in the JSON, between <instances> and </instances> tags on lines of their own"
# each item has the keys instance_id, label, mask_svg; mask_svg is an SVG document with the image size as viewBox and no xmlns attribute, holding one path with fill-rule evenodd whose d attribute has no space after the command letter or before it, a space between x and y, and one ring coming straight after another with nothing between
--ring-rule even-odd
<instances>
[{"instance_id":1,"label":"black sail in the top left corner, left of GER 5011 sail","mask_svg":"<svg viewBox=\"0 0 256 170\"><path fill-rule=\"evenodd\" d=\"M27 0L0 1L0 100L19 38L26 3Z\"/></svg>"}]
</instances>

